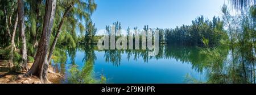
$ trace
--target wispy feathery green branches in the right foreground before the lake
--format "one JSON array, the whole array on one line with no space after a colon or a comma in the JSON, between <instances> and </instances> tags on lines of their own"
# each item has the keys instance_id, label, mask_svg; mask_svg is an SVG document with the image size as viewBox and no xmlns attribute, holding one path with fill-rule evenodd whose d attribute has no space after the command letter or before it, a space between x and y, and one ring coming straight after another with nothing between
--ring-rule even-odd
<instances>
[{"instance_id":1,"label":"wispy feathery green branches in the right foreground before the lake","mask_svg":"<svg viewBox=\"0 0 256 95\"><path fill-rule=\"evenodd\" d=\"M207 83L255 84L255 18L251 10L241 7L242 14L236 15L230 15L226 5L222 7L228 40L221 40L219 48L201 49L200 55L205 56ZM229 52L229 56L225 52Z\"/></svg>"}]
</instances>

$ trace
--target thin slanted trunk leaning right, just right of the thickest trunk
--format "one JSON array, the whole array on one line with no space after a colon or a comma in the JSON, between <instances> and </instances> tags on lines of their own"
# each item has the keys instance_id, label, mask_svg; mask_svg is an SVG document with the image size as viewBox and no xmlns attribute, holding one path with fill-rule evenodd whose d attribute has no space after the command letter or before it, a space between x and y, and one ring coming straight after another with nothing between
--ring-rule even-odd
<instances>
[{"instance_id":1,"label":"thin slanted trunk leaning right, just right of the thickest trunk","mask_svg":"<svg viewBox=\"0 0 256 95\"><path fill-rule=\"evenodd\" d=\"M68 7L68 9L65 11L63 17L61 18L61 21L60 21L60 24L59 24L59 27L58 27L58 30L57 30L57 33L55 35L55 38L52 42L52 45L51 45L51 49L49 50L49 55L48 55L48 63L51 61L51 57L52 57L52 54L53 54L53 51L55 49L55 46L56 46L56 43L57 43L57 40L60 36L60 33L61 33L61 28L63 26L63 23L64 23L64 20L65 18L67 17L69 11L71 11L72 7L73 7L74 3L71 3L71 5Z\"/></svg>"}]
</instances>

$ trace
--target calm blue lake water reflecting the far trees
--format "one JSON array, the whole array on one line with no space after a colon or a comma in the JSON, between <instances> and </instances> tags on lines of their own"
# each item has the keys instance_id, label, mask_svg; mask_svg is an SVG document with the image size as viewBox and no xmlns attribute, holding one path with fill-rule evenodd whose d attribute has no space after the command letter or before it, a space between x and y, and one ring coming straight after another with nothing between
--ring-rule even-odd
<instances>
[{"instance_id":1,"label":"calm blue lake water reflecting the far trees","mask_svg":"<svg viewBox=\"0 0 256 95\"><path fill-rule=\"evenodd\" d=\"M72 83L72 77L77 79L71 74L73 65L82 73L92 72L88 76L95 80L101 80L103 74L106 83L186 83L187 75L205 81L204 70L196 66L201 63L196 47L161 46L158 56L139 50L98 51L96 46L72 51L67 51L67 61L52 64L55 72L64 75L61 83Z\"/></svg>"}]
</instances>

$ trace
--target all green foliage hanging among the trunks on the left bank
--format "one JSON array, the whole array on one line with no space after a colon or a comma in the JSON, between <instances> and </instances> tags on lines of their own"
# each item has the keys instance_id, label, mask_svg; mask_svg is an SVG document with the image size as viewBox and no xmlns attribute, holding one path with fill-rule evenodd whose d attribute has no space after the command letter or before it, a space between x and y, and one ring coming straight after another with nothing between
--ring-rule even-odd
<instances>
[{"instance_id":1,"label":"all green foliage hanging among the trunks on the left bank","mask_svg":"<svg viewBox=\"0 0 256 95\"><path fill-rule=\"evenodd\" d=\"M27 55L28 61L32 62L34 59L31 56L35 56L36 51L38 49L38 41L41 39L41 32L43 28L43 17L45 13L45 2L44 0L28 0L24 1L24 22L26 27L26 41L27 41ZM70 11L67 11L68 7L71 7ZM56 15L53 23L53 32L51 34L51 42L56 36L56 30L59 28L60 20L63 18L63 34L60 35L60 38L56 45L56 52L54 52L53 56L54 61L63 63L64 59L67 57L63 57L66 55L65 52L61 49L71 49L76 48L78 44L78 39L81 36L77 35L77 31L83 33L86 28L85 27L95 27L95 24L85 24L84 23L93 23L90 19L92 13L96 10L96 3L94 0L71 0L71 1L57 1L56 5ZM6 12L5 12L6 11ZM67 15L64 16L64 13L67 11ZM7 27L10 28L10 34L13 33L14 22L17 13L17 2L16 1L0 1L0 58L1 60L9 60L10 59L10 43L11 37L7 34ZM64 16L64 17L63 17ZM10 21L9 21L10 18ZM7 20L8 21L7 21ZM7 22L7 23L6 23ZM95 29L95 28L94 28ZM20 39L19 27L16 30L16 35L14 39L15 49L20 50L22 41ZM95 34L97 30L94 30ZM51 44L51 43L50 43ZM3 49L2 49L3 48ZM14 63L16 64L21 60L21 57L18 52L14 50L13 55ZM18 64L17 64L18 65Z\"/></svg>"}]
</instances>

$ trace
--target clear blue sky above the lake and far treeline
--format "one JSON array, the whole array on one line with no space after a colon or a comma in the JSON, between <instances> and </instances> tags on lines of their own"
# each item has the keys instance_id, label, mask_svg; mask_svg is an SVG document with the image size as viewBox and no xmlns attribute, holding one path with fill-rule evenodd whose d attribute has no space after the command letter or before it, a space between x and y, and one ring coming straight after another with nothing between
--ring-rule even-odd
<instances>
[{"instance_id":1,"label":"clear blue sky above the lake and far treeline","mask_svg":"<svg viewBox=\"0 0 256 95\"><path fill-rule=\"evenodd\" d=\"M212 19L221 16L221 6L226 0L95 0L97 10L92 19L98 30L106 25L121 22L126 30L138 26L143 28L174 28L191 24L197 16ZM99 34L99 33L97 33Z\"/></svg>"}]
</instances>

